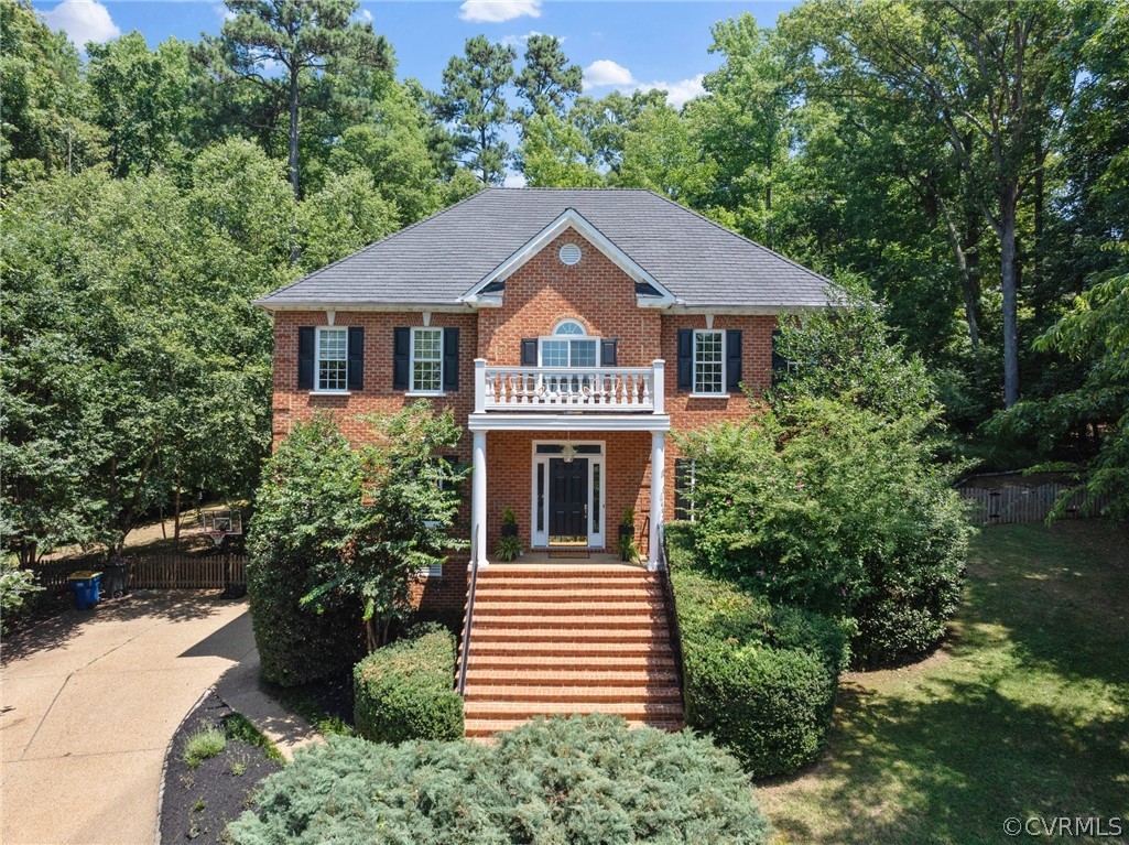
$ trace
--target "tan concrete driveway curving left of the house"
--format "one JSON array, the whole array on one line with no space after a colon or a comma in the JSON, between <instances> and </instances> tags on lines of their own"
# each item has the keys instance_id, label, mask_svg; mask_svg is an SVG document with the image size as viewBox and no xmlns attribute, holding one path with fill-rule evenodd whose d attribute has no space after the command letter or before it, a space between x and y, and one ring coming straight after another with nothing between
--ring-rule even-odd
<instances>
[{"instance_id":1,"label":"tan concrete driveway curving left of the house","mask_svg":"<svg viewBox=\"0 0 1129 845\"><path fill-rule=\"evenodd\" d=\"M165 750L250 657L246 600L139 591L21 631L0 657L0 842L151 845Z\"/></svg>"}]
</instances>

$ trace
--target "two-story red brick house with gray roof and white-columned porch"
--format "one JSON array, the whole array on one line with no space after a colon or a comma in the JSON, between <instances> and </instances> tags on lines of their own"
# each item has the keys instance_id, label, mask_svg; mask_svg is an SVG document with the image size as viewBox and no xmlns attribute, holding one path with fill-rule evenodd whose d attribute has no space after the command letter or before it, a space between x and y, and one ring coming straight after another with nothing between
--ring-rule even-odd
<instances>
[{"instance_id":1,"label":"two-story red brick house with gray roof and white-columned porch","mask_svg":"<svg viewBox=\"0 0 1129 845\"><path fill-rule=\"evenodd\" d=\"M361 437L360 416L428 397L470 435L479 572L500 568L505 508L532 565L614 551L627 507L654 570L689 479L667 434L747 415L778 315L828 286L650 191L485 190L256 300L274 438L318 409ZM460 563L428 574L423 604L463 608Z\"/></svg>"}]
</instances>

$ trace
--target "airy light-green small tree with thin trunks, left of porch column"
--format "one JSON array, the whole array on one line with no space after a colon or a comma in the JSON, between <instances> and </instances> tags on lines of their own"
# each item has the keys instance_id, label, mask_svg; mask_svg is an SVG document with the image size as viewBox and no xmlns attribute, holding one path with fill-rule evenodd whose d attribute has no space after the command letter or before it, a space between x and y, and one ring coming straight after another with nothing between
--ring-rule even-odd
<instances>
[{"instance_id":1,"label":"airy light-green small tree with thin trunks, left of porch column","mask_svg":"<svg viewBox=\"0 0 1129 845\"><path fill-rule=\"evenodd\" d=\"M458 445L450 411L419 401L395 413L375 415L369 441L357 447L359 474L352 506L339 511L330 542L309 572L304 607L323 612L359 602L368 651L385 644L396 620L411 612L411 584L466 542L449 535L458 513L458 484L469 470L440 455Z\"/></svg>"}]
</instances>

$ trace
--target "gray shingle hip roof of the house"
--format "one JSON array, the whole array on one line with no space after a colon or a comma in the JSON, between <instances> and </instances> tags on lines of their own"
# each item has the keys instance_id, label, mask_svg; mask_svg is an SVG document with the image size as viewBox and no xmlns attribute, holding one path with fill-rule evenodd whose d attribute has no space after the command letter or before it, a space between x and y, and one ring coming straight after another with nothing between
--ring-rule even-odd
<instances>
[{"instance_id":1,"label":"gray shingle hip roof of the house","mask_svg":"<svg viewBox=\"0 0 1129 845\"><path fill-rule=\"evenodd\" d=\"M802 307L824 277L679 206L631 189L490 189L268 294L257 304L455 305L574 209L681 305Z\"/></svg>"}]
</instances>

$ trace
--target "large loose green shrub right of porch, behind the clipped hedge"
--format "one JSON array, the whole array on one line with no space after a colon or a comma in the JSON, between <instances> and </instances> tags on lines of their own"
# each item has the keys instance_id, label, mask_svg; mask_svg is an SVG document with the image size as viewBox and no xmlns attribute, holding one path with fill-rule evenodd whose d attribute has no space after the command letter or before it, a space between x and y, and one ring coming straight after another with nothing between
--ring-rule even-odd
<instances>
[{"instance_id":1,"label":"large loose green shrub right of porch, behind the clipped hedge","mask_svg":"<svg viewBox=\"0 0 1129 845\"><path fill-rule=\"evenodd\" d=\"M960 600L968 520L931 462L934 416L803 399L691 434L693 557L774 601L851 620L859 665L916 659Z\"/></svg>"}]
</instances>

